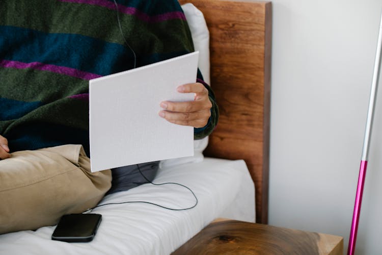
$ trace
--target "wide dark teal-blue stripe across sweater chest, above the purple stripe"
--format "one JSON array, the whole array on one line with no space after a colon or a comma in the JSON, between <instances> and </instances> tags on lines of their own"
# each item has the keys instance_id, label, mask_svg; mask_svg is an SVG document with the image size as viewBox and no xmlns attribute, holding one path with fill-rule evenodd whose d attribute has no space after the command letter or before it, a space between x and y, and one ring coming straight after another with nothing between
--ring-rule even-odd
<instances>
[{"instance_id":1,"label":"wide dark teal-blue stripe across sweater chest, above the purple stripe","mask_svg":"<svg viewBox=\"0 0 382 255\"><path fill-rule=\"evenodd\" d=\"M102 76L130 69L133 62L131 51L117 43L8 26L0 26L0 48L0 59L65 66Z\"/></svg>"}]
</instances>

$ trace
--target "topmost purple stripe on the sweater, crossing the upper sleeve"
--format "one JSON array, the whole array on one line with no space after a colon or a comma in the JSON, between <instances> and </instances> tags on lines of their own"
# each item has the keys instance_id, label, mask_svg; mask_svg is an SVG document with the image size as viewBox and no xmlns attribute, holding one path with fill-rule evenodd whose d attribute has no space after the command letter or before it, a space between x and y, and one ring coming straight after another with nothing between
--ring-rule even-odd
<instances>
[{"instance_id":1,"label":"topmost purple stripe on the sweater, crossing the upper sleeve","mask_svg":"<svg viewBox=\"0 0 382 255\"><path fill-rule=\"evenodd\" d=\"M107 0L59 0L59 1L77 3L77 4L97 5L97 6L105 7L112 10L117 9L116 5L113 2L110 2ZM135 15L137 18L146 22L160 22L160 21L166 21L169 19L183 19L183 20L186 19L186 17L184 16L184 13L180 11L149 16L146 13L139 11L137 8L127 7L121 4L118 4L118 10L121 13Z\"/></svg>"}]
</instances>

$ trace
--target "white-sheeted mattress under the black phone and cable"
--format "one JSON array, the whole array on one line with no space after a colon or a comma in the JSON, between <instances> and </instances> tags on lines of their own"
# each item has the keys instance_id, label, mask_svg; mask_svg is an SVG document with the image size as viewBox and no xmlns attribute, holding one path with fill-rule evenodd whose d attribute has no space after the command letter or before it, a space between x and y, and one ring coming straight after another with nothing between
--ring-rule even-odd
<instances>
[{"instance_id":1,"label":"white-sheeted mattress under the black phone and cable","mask_svg":"<svg viewBox=\"0 0 382 255\"><path fill-rule=\"evenodd\" d=\"M219 217L255 221L254 184L244 161L206 158L160 169L154 183L177 182L198 197L196 208L170 211L146 203L125 203L93 210L102 222L92 242L52 241L54 226L0 235L0 254L169 254ZM193 195L175 185L145 184L108 195L102 203L144 200L187 208Z\"/></svg>"}]
</instances>

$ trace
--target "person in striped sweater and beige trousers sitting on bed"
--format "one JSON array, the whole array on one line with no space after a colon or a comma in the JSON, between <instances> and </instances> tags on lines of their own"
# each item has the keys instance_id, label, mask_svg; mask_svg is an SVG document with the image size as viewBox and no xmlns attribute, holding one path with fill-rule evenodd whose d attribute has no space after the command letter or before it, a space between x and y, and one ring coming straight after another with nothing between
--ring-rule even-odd
<instances>
[{"instance_id":1,"label":"person in striped sweater and beige trousers sitting on bed","mask_svg":"<svg viewBox=\"0 0 382 255\"><path fill-rule=\"evenodd\" d=\"M2 1L0 234L92 208L119 180L90 171L90 79L193 51L176 0ZM219 111L201 73L178 91L195 100L158 102L158 117L194 126L195 139L209 135Z\"/></svg>"}]
</instances>

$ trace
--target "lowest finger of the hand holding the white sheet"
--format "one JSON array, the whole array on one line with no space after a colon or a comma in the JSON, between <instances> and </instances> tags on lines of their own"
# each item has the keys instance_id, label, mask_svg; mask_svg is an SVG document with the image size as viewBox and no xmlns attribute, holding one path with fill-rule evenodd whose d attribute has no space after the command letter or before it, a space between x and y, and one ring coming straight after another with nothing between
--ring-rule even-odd
<instances>
[{"instance_id":1,"label":"lowest finger of the hand holding the white sheet","mask_svg":"<svg viewBox=\"0 0 382 255\"><path fill-rule=\"evenodd\" d=\"M207 124L207 121L211 116L211 111L205 110L191 113L160 111L159 116L172 123L194 127L203 127Z\"/></svg>"}]
</instances>

